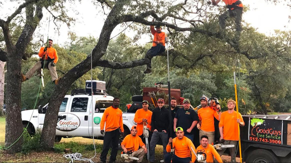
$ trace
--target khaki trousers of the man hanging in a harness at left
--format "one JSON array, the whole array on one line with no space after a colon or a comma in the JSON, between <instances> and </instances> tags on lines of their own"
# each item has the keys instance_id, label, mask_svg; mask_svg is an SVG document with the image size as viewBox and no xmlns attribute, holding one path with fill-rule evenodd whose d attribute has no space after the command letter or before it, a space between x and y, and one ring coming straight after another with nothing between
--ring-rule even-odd
<instances>
[{"instance_id":1,"label":"khaki trousers of the man hanging in a harness at left","mask_svg":"<svg viewBox=\"0 0 291 163\"><path fill-rule=\"evenodd\" d=\"M47 62L45 63L45 68L47 69L47 66L46 66ZM51 66L52 64L52 61L49 62L49 65L48 65L48 70L49 72L51 73L51 77L52 77L52 82L56 79L58 79L58 74L56 73L56 67L52 67ZM30 79L33 74L37 71L37 74L40 74L40 68L41 67L41 61L38 61L27 73L26 73L26 78L27 79Z\"/></svg>"}]
</instances>

